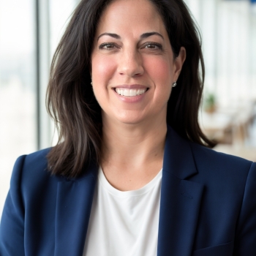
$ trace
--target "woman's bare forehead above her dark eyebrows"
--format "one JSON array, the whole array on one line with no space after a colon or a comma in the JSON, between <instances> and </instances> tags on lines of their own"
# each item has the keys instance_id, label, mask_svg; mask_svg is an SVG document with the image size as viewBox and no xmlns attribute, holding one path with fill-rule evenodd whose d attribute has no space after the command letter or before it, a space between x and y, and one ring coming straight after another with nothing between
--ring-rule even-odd
<instances>
[{"instance_id":1,"label":"woman's bare forehead above her dark eyebrows","mask_svg":"<svg viewBox=\"0 0 256 256\"><path fill-rule=\"evenodd\" d=\"M157 7L148 0L115 0L102 12L96 34L113 32L136 35L145 31L166 33Z\"/></svg>"}]
</instances>

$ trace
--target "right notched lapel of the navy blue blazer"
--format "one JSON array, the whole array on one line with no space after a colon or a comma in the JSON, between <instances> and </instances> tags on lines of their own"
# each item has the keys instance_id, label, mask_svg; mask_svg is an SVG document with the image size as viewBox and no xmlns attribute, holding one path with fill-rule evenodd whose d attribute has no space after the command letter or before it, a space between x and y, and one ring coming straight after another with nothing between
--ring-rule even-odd
<instances>
[{"instance_id":1,"label":"right notched lapel of the navy blue blazer","mask_svg":"<svg viewBox=\"0 0 256 256\"><path fill-rule=\"evenodd\" d=\"M197 174L191 148L168 127L162 172L157 256L190 256L203 185L185 178Z\"/></svg>"}]
</instances>

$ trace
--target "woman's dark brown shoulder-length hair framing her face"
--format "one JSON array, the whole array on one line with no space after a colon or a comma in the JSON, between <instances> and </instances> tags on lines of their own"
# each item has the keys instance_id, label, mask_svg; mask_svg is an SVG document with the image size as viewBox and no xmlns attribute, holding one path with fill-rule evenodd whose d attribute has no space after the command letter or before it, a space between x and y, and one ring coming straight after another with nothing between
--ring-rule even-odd
<instances>
[{"instance_id":1,"label":"woman's dark brown shoulder-length hair framing her face","mask_svg":"<svg viewBox=\"0 0 256 256\"><path fill-rule=\"evenodd\" d=\"M53 56L47 91L48 113L59 132L59 142L48 154L53 174L79 176L91 161L100 162L102 118L91 89L91 50L99 18L111 1L80 1ZM181 46L187 50L167 104L167 124L187 140L213 146L197 120L205 75L197 26L184 1L150 1L162 16L174 56Z\"/></svg>"}]
</instances>

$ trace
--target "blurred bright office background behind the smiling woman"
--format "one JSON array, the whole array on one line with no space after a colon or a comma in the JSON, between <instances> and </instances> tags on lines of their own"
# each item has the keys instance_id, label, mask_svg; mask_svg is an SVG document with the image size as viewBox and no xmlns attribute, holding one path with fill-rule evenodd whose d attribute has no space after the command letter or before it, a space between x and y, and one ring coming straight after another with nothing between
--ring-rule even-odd
<instances>
[{"instance_id":1,"label":"blurred bright office background behind the smiling woman","mask_svg":"<svg viewBox=\"0 0 256 256\"><path fill-rule=\"evenodd\" d=\"M15 159L56 143L50 61L79 0L0 0L0 217ZM186 0L203 39L200 125L214 148L256 162L256 0Z\"/></svg>"}]
</instances>

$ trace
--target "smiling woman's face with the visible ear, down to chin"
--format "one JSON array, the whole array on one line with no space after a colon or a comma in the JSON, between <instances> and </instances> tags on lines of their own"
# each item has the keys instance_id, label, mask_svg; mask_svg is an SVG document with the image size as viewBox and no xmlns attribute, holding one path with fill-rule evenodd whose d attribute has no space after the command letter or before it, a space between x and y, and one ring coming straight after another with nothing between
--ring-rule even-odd
<instances>
[{"instance_id":1,"label":"smiling woman's face with the visible ear, down to chin","mask_svg":"<svg viewBox=\"0 0 256 256\"><path fill-rule=\"evenodd\" d=\"M148 0L116 0L102 13L91 53L102 120L165 121L172 83L185 59L173 59L161 16Z\"/></svg>"}]
</instances>

